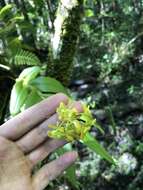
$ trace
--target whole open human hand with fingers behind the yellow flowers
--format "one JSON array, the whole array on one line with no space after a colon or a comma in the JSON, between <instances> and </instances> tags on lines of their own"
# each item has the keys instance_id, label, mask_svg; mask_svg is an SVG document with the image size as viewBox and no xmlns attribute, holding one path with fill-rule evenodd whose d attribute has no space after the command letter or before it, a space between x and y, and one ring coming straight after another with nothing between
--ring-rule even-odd
<instances>
[{"instance_id":1,"label":"whole open human hand with fingers behind the yellow flowers","mask_svg":"<svg viewBox=\"0 0 143 190\"><path fill-rule=\"evenodd\" d=\"M20 113L0 126L0 189L43 190L77 158L76 152L65 153L32 175L38 162L66 142L50 139L48 125L58 120L56 109L68 98L59 93ZM76 102L76 109L82 107Z\"/></svg>"}]
</instances>

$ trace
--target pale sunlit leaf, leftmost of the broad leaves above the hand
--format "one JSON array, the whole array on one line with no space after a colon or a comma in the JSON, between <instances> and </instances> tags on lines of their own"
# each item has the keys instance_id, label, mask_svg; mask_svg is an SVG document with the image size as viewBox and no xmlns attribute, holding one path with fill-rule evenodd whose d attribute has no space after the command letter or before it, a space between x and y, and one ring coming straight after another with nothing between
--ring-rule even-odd
<instances>
[{"instance_id":1,"label":"pale sunlit leaf, leftmost of the broad leaves above the hand","mask_svg":"<svg viewBox=\"0 0 143 190\"><path fill-rule=\"evenodd\" d=\"M12 116L20 112L29 93L29 88L24 87L22 81L17 81L13 86L10 97L10 113Z\"/></svg>"}]
</instances>

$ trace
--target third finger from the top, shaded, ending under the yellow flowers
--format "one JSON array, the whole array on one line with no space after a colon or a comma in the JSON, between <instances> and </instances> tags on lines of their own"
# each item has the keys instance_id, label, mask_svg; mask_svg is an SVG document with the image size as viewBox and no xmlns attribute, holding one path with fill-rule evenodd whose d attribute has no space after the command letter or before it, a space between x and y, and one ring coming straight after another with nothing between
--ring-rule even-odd
<instances>
[{"instance_id":1,"label":"third finger from the top, shaded, ending under the yellow flowers","mask_svg":"<svg viewBox=\"0 0 143 190\"><path fill-rule=\"evenodd\" d=\"M36 166L40 161L44 160L50 153L66 144L66 141L50 139L40 145L27 155L31 163L31 167Z\"/></svg>"}]
</instances>

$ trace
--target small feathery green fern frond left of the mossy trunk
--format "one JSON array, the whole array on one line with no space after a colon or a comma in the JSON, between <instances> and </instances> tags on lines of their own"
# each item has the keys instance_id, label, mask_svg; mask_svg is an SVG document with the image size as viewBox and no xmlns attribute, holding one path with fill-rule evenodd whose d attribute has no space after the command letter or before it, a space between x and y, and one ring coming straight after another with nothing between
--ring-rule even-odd
<instances>
[{"instance_id":1,"label":"small feathery green fern frond left of the mossy trunk","mask_svg":"<svg viewBox=\"0 0 143 190\"><path fill-rule=\"evenodd\" d=\"M14 55L14 63L16 65L40 65L39 58L29 51L19 49Z\"/></svg>"}]
</instances>

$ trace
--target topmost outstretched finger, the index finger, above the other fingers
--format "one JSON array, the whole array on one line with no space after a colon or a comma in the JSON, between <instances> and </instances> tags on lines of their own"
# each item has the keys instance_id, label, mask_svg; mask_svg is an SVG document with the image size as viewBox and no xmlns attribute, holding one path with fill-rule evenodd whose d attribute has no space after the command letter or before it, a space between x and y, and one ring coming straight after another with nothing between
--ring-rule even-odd
<instances>
[{"instance_id":1,"label":"topmost outstretched finger, the index finger, above the other fingers","mask_svg":"<svg viewBox=\"0 0 143 190\"><path fill-rule=\"evenodd\" d=\"M62 93L51 96L32 106L23 113L10 119L0 127L0 135L10 140L17 140L35 125L49 118L56 112L60 102L67 103L68 98Z\"/></svg>"}]
</instances>

